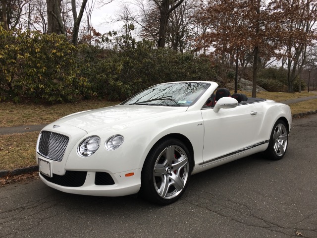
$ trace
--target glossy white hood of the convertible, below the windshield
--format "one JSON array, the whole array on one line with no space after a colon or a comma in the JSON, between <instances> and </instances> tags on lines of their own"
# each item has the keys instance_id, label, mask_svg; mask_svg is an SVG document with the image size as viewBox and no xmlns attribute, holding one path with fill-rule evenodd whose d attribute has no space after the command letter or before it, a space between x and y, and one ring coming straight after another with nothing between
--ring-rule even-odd
<instances>
[{"instance_id":1,"label":"glossy white hood of the convertible, below the windshield","mask_svg":"<svg viewBox=\"0 0 317 238\"><path fill-rule=\"evenodd\" d=\"M170 113L186 112L188 107L160 107L117 105L108 108L75 113L55 121L54 125L72 125L87 133L95 130L120 130L140 120L162 117Z\"/></svg>"}]
</instances>

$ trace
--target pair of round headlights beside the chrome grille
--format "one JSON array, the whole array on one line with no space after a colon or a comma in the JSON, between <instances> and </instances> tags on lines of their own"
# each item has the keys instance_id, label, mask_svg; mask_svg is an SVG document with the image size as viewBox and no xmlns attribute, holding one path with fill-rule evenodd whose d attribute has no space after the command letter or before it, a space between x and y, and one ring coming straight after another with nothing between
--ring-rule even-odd
<instances>
[{"instance_id":1,"label":"pair of round headlights beside the chrome grille","mask_svg":"<svg viewBox=\"0 0 317 238\"><path fill-rule=\"evenodd\" d=\"M115 150L123 143L122 135L113 135L106 140L107 150ZM78 146L78 154L83 157L89 157L100 147L101 139L97 135L92 135L84 139Z\"/></svg>"}]
</instances>

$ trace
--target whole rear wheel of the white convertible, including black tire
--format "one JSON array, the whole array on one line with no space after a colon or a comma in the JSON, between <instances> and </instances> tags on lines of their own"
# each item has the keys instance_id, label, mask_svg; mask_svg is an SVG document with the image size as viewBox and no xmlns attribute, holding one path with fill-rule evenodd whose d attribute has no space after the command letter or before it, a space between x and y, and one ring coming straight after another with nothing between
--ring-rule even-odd
<instances>
[{"instance_id":1,"label":"whole rear wheel of the white convertible, including black tire","mask_svg":"<svg viewBox=\"0 0 317 238\"><path fill-rule=\"evenodd\" d=\"M285 122L278 119L272 129L265 155L271 160L280 160L284 157L288 145L288 130Z\"/></svg>"}]
</instances>

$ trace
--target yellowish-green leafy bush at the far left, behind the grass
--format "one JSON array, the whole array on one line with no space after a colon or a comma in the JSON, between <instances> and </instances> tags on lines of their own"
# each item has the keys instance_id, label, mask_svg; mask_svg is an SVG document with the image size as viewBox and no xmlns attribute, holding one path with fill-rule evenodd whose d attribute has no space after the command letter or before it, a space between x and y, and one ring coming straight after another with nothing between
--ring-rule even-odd
<instances>
[{"instance_id":1,"label":"yellowish-green leafy bush at the far left, behind the grass","mask_svg":"<svg viewBox=\"0 0 317 238\"><path fill-rule=\"evenodd\" d=\"M0 100L26 97L54 103L89 93L75 58L76 48L63 35L0 26Z\"/></svg>"}]
</instances>

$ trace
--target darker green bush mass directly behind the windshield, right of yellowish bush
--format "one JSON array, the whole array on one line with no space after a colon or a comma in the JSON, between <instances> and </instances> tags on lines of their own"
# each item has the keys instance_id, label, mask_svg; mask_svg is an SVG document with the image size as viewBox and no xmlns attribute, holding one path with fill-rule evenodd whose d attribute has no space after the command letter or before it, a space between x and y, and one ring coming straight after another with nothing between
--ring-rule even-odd
<instances>
[{"instance_id":1,"label":"darker green bush mass directly behind the windshield, right of yellowish bush","mask_svg":"<svg viewBox=\"0 0 317 238\"><path fill-rule=\"evenodd\" d=\"M156 49L149 41L134 46L117 51L81 46L77 62L81 75L98 97L123 100L157 83L215 77L207 58Z\"/></svg>"}]
</instances>

